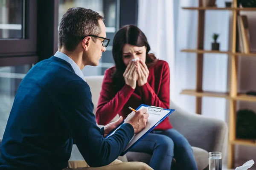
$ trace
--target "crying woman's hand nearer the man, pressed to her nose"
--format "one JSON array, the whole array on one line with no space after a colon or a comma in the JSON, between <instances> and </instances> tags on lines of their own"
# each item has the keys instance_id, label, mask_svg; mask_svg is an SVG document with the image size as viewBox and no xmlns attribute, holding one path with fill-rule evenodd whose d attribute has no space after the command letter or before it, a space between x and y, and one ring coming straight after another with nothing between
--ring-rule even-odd
<instances>
[{"instance_id":1,"label":"crying woman's hand nearer the man, pressed to her nose","mask_svg":"<svg viewBox=\"0 0 256 170\"><path fill-rule=\"evenodd\" d=\"M123 74L123 77L125 78L125 84L131 86L133 89L136 88L136 81L138 79L137 67L137 62L130 61Z\"/></svg>"}]
</instances>

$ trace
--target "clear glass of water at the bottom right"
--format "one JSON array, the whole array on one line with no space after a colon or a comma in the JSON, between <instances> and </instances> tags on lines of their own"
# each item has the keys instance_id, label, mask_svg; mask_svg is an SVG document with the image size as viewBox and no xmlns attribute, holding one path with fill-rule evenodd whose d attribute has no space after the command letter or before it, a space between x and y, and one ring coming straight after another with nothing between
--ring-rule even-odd
<instances>
[{"instance_id":1,"label":"clear glass of water at the bottom right","mask_svg":"<svg viewBox=\"0 0 256 170\"><path fill-rule=\"evenodd\" d=\"M221 170L221 152L209 152L209 170Z\"/></svg>"}]
</instances>

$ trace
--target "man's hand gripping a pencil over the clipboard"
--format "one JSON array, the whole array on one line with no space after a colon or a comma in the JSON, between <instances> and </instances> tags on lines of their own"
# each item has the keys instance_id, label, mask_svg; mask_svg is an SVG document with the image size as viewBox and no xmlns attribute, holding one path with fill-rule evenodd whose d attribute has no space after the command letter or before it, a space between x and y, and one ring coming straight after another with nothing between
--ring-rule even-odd
<instances>
[{"instance_id":1,"label":"man's hand gripping a pencil over the clipboard","mask_svg":"<svg viewBox=\"0 0 256 170\"><path fill-rule=\"evenodd\" d=\"M125 119L125 123L130 123L134 127L134 133L137 134L141 130L143 130L148 122L149 114L146 113L147 109L140 109L137 112L132 112L128 114L127 118Z\"/></svg>"}]
</instances>

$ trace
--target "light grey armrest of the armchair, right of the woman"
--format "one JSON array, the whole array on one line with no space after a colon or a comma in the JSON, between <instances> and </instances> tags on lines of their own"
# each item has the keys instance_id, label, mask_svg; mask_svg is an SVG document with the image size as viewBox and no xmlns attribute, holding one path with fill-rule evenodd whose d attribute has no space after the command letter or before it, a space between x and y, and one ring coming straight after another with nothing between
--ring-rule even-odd
<instances>
[{"instance_id":1,"label":"light grey armrest of the armchair, right of the woman","mask_svg":"<svg viewBox=\"0 0 256 170\"><path fill-rule=\"evenodd\" d=\"M226 122L206 116L189 113L170 101L175 111L169 116L173 127L189 141L191 146L200 147L208 152L220 151L225 154L227 146Z\"/></svg>"}]
</instances>

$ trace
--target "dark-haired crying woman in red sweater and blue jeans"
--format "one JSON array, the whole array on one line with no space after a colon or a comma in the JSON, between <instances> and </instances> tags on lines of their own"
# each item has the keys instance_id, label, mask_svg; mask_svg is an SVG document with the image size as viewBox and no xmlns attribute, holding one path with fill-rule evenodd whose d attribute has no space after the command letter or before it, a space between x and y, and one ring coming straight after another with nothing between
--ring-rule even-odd
<instances>
[{"instance_id":1,"label":"dark-haired crying woman in red sweater and blue jeans","mask_svg":"<svg viewBox=\"0 0 256 170\"><path fill-rule=\"evenodd\" d=\"M113 39L115 66L105 71L96 121L108 124L116 114L124 119L131 113L129 106L140 104L169 108L170 71L167 62L149 54L150 46L136 26L121 28ZM132 59L139 58L137 61ZM149 166L154 170L170 170L176 159L178 170L197 170L189 142L172 128L169 118L131 148L133 152L152 155Z\"/></svg>"}]
</instances>

